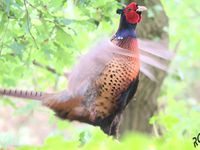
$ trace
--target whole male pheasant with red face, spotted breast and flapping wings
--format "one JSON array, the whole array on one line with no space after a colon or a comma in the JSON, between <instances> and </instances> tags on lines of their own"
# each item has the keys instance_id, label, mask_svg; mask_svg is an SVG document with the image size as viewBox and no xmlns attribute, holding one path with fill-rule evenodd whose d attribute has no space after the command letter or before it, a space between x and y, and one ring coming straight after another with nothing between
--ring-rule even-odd
<instances>
[{"instance_id":1,"label":"whole male pheasant with red face, spotted breast and flapping wings","mask_svg":"<svg viewBox=\"0 0 200 150\"><path fill-rule=\"evenodd\" d=\"M153 78L140 67L135 32L145 10L135 2L117 10L121 19L116 34L111 40L97 43L80 58L68 76L66 90L43 93L0 89L0 95L39 100L62 119L100 126L105 133L116 135L121 113L137 90L140 69ZM164 68L153 60L149 64Z\"/></svg>"}]
</instances>

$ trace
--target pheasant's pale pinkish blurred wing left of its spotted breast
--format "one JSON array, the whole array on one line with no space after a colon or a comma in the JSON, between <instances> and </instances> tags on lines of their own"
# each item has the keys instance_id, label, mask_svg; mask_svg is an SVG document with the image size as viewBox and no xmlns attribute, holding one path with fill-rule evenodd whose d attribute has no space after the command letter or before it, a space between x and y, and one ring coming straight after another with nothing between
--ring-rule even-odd
<instances>
[{"instance_id":1,"label":"pheasant's pale pinkish blurred wing left of its spotted breast","mask_svg":"<svg viewBox=\"0 0 200 150\"><path fill-rule=\"evenodd\" d=\"M116 46L108 38L102 39L81 56L69 74L71 95L83 95L115 54L138 57L134 52Z\"/></svg>"}]
</instances>

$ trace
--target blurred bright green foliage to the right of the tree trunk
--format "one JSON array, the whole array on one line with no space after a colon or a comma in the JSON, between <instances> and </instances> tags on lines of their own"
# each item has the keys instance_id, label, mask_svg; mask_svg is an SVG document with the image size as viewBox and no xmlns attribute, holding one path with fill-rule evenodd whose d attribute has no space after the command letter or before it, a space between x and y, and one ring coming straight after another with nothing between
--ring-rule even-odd
<instances>
[{"instance_id":1,"label":"blurred bright green foliage to the right of the tree trunk","mask_svg":"<svg viewBox=\"0 0 200 150\"><path fill-rule=\"evenodd\" d=\"M169 17L170 47L176 50L176 56L172 61L171 76L163 86L160 99L168 102L159 114L158 122L171 131L170 135L197 134L200 113L194 108L199 108L200 16L197 6L200 2L162 0L162 3Z\"/></svg>"}]
</instances>

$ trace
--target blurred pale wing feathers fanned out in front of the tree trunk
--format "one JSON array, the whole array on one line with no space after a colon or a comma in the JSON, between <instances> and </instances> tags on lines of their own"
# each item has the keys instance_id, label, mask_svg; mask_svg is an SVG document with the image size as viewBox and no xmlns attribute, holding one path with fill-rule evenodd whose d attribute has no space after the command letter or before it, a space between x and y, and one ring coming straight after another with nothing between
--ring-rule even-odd
<instances>
[{"instance_id":1,"label":"blurred pale wing feathers fanned out in front of the tree trunk","mask_svg":"<svg viewBox=\"0 0 200 150\"><path fill-rule=\"evenodd\" d=\"M152 81L156 81L155 70L168 72L168 64L173 53L167 46L155 41L139 40L141 72Z\"/></svg>"}]
</instances>

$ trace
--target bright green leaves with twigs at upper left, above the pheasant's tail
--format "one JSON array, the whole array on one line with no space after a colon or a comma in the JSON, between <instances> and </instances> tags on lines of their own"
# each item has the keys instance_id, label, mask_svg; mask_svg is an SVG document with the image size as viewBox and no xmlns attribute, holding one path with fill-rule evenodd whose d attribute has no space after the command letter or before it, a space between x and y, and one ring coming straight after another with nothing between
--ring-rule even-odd
<instances>
[{"instance_id":1,"label":"bright green leaves with twigs at upper left, above the pheasant's tail","mask_svg":"<svg viewBox=\"0 0 200 150\"><path fill-rule=\"evenodd\" d=\"M2 1L0 5L0 52L2 55L0 57L5 58L6 63L1 62L0 80L8 82L7 80L12 79L10 81L14 82L20 80L23 75L23 78L29 81L32 79L41 81L49 76L46 78L47 81L45 80L46 82L49 80L48 86L56 84L51 82L52 78L54 82L57 82L57 75L38 68L32 64L32 61L52 67L59 74L63 74L64 69L71 68L77 56L88 47L88 44L92 43L93 39L97 39L102 32L110 32L112 12L115 11L117 3L113 0L110 2L90 1L88 4L85 7L79 2L62 0ZM100 30L98 25L101 25L101 22L108 23L107 26L111 27ZM8 78L6 73L8 69L5 68L22 72L18 76L14 75L17 72L13 72ZM32 69L27 70L28 68ZM40 73L39 75L34 73L32 77L31 71ZM39 84L41 87L47 86L46 83Z\"/></svg>"}]
</instances>

